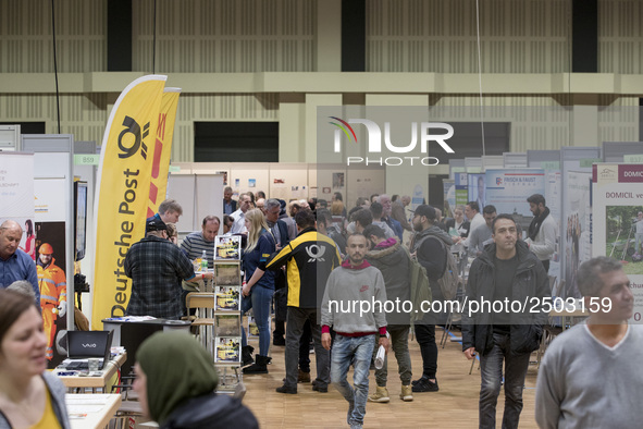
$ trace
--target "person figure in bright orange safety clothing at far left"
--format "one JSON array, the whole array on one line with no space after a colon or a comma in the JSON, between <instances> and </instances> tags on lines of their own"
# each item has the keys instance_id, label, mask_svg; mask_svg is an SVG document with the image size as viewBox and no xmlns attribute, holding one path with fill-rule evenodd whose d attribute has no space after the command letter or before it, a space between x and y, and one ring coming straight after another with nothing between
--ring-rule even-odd
<instances>
[{"instance_id":1,"label":"person figure in bright orange safety clothing at far left","mask_svg":"<svg viewBox=\"0 0 643 429\"><path fill-rule=\"evenodd\" d=\"M53 340L55 338L55 320L64 317L67 311L67 283L65 272L53 259L53 247L44 243L38 253L38 286L40 287L40 307L47 334L47 358L53 357Z\"/></svg>"}]
</instances>

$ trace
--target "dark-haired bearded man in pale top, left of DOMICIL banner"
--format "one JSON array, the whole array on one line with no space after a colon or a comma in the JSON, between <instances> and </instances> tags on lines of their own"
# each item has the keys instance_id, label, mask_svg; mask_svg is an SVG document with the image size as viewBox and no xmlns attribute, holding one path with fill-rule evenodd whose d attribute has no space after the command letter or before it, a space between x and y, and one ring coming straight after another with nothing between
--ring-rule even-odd
<instances>
[{"instance_id":1,"label":"dark-haired bearded man in pale top, left of DOMICIL banner","mask_svg":"<svg viewBox=\"0 0 643 429\"><path fill-rule=\"evenodd\" d=\"M541 194L533 194L527 198L527 203L529 203L529 210L533 213L533 220L529 224L529 237L524 242L548 272L549 259L556 252L558 225L549 213L549 208L545 206L545 197Z\"/></svg>"}]
</instances>

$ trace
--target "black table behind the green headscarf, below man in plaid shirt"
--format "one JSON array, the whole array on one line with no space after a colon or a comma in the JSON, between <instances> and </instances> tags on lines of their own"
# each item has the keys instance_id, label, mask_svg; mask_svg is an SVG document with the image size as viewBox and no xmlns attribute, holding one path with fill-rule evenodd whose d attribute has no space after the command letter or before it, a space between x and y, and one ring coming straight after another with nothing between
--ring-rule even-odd
<instances>
[{"instance_id":1,"label":"black table behind the green headscarf, below man in plaid shirt","mask_svg":"<svg viewBox=\"0 0 643 429\"><path fill-rule=\"evenodd\" d=\"M106 331L113 330L112 346L122 345L127 351L127 360L121 365L123 376L128 376L134 368L136 351L147 339L159 331L185 331L189 333L191 322L187 320L128 320L127 318L102 319L102 328Z\"/></svg>"}]
</instances>

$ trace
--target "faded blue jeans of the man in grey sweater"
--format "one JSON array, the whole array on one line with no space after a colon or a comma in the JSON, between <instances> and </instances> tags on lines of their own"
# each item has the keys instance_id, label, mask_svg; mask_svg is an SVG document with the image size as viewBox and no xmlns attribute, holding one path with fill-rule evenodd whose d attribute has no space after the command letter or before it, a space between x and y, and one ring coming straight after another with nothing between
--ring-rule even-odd
<instances>
[{"instance_id":1,"label":"faded blue jeans of the man in grey sweater","mask_svg":"<svg viewBox=\"0 0 643 429\"><path fill-rule=\"evenodd\" d=\"M375 345L375 335L335 335L331 353L331 382L348 401L348 425L363 425L369 397L369 368ZM353 363L353 387L346 380L348 367Z\"/></svg>"}]
</instances>

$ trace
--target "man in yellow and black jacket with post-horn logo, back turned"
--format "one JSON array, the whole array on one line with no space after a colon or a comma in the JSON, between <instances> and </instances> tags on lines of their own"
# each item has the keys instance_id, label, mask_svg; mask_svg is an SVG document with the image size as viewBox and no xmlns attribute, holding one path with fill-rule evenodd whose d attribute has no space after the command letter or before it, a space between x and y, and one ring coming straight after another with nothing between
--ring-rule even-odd
<instances>
[{"instance_id":1,"label":"man in yellow and black jacket with post-horn logo, back turned","mask_svg":"<svg viewBox=\"0 0 643 429\"><path fill-rule=\"evenodd\" d=\"M286 318L286 379L277 388L279 393L297 393L297 365L299 339L306 320L310 320L317 380L312 390L327 392L330 382L330 354L321 344L321 327L318 308L324 294L331 271L339 266L341 258L335 243L314 229L314 214L299 210L295 216L298 234L265 265L268 270L277 270L286 265L288 282L288 316Z\"/></svg>"}]
</instances>

